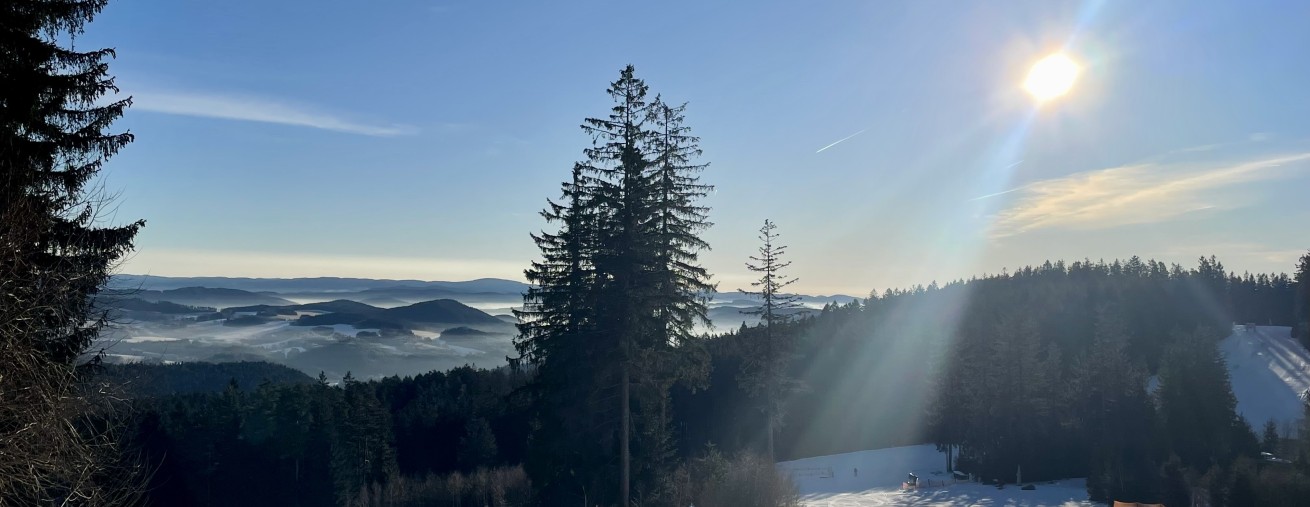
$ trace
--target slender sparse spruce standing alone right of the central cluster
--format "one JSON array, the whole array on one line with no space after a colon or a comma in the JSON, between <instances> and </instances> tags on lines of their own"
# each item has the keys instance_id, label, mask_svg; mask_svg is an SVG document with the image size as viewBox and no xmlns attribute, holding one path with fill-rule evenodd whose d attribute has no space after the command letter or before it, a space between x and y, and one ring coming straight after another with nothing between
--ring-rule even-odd
<instances>
[{"instance_id":1,"label":"slender sparse spruce standing alone right of the central cluster","mask_svg":"<svg viewBox=\"0 0 1310 507\"><path fill-rule=\"evenodd\" d=\"M764 405L765 452L769 460L776 457L773 438L782 422L782 397L793 386L787 377L787 364L793 356L791 331L786 328L794 316L793 310L800 307L800 297L786 292L796 279L783 272L791 266L791 261L782 259L787 248L778 244L777 228L773 221L764 220L764 227L760 228L760 253L751 255L752 262L745 263L748 270L760 274L760 279L751 283L756 290L738 290L760 299L760 307L744 312L760 316L764 329L757 343L745 343L740 381Z\"/></svg>"}]
</instances>

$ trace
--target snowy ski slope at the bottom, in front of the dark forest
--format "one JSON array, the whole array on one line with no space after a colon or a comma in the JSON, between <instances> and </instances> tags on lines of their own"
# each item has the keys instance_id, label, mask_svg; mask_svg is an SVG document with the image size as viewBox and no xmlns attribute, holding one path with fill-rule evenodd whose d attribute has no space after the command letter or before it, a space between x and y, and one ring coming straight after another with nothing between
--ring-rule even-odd
<instances>
[{"instance_id":1,"label":"snowy ski slope at the bottom, in front of the dark forest","mask_svg":"<svg viewBox=\"0 0 1310 507\"><path fill-rule=\"evenodd\" d=\"M800 491L800 503L810 507L865 506L1099 506L1087 500L1082 479L1038 483L1036 490L1014 486L1003 490L973 482L955 482L946 470L946 455L933 445L908 445L859 451L845 455L808 457L778 464ZM913 472L920 490L900 491L901 481Z\"/></svg>"}]
</instances>

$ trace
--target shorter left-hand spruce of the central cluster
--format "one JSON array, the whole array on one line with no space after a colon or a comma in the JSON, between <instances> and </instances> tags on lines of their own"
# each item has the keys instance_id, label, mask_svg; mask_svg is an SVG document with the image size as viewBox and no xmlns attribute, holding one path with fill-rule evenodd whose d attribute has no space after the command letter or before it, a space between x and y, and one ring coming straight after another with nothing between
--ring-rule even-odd
<instances>
[{"instance_id":1,"label":"shorter left-hand spruce of the central cluster","mask_svg":"<svg viewBox=\"0 0 1310 507\"><path fill-rule=\"evenodd\" d=\"M574 503L571 497L599 491L603 485L592 472L607 460L612 449L607 443L613 441L612 434L601 431L612 426L600 407L607 392L595 389L609 377L612 364L597 330L599 212L586 181L582 164L575 164L559 200L548 202L541 212L558 229L532 236L541 259L525 271L533 287L524 293L523 310L515 312L519 358L511 364L533 373L527 393L534 406L534 431L525 465L548 503L566 503L566 498Z\"/></svg>"}]
</instances>

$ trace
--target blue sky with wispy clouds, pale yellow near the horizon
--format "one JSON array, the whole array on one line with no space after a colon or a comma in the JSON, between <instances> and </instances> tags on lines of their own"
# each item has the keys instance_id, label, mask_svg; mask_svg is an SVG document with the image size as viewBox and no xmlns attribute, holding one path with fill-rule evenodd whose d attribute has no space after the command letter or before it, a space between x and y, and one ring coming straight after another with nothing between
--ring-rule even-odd
<instances>
[{"instance_id":1,"label":"blue sky with wispy clouds, pale yellow near the horizon","mask_svg":"<svg viewBox=\"0 0 1310 507\"><path fill-rule=\"evenodd\" d=\"M688 102L702 255L748 287L765 219L806 293L1141 255L1310 249L1310 3L118 0L145 219L123 272L523 279L626 64ZM1081 73L1023 88L1062 52Z\"/></svg>"}]
</instances>

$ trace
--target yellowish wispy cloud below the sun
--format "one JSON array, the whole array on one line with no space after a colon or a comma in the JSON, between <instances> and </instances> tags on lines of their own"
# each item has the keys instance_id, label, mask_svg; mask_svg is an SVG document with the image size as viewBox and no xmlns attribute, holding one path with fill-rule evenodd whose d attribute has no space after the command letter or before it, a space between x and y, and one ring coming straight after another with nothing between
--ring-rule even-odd
<instances>
[{"instance_id":1,"label":"yellowish wispy cloud below the sun","mask_svg":"<svg viewBox=\"0 0 1310 507\"><path fill-rule=\"evenodd\" d=\"M1197 168L1142 164L1044 179L1024 187L1000 212L993 233L1014 236L1044 228L1100 229L1159 223L1186 214L1231 207L1217 191L1237 183L1303 170L1310 153Z\"/></svg>"}]
</instances>

